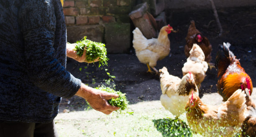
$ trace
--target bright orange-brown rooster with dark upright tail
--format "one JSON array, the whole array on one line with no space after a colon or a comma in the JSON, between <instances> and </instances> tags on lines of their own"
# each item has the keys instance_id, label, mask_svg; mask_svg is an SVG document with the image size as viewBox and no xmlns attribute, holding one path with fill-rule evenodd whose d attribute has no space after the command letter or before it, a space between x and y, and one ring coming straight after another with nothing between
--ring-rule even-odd
<instances>
[{"instance_id":1,"label":"bright orange-brown rooster with dark upright tail","mask_svg":"<svg viewBox=\"0 0 256 137\"><path fill-rule=\"evenodd\" d=\"M245 72L236 56L229 50L229 43L219 45L215 66L218 69L217 89L223 100L228 98L238 89L245 90L248 87L250 95L253 85L250 76Z\"/></svg>"}]
</instances>

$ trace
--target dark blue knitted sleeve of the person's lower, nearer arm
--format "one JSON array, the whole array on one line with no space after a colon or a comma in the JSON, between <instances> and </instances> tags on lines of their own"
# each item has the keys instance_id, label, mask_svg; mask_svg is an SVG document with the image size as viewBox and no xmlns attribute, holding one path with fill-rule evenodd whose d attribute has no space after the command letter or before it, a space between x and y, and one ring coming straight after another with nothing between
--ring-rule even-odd
<instances>
[{"instance_id":1,"label":"dark blue knitted sleeve of the person's lower, nearer arm","mask_svg":"<svg viewBox=\"0 0 256 137\"><path fill-rule=\"evenodd\" d=\"M68 98L79 90L81 80L71 75L56 57L54 10L51 0L27 0L23 3L19 21L24 38L24 55L28 75L34 85Z\"/></svg>"}]
</instances>

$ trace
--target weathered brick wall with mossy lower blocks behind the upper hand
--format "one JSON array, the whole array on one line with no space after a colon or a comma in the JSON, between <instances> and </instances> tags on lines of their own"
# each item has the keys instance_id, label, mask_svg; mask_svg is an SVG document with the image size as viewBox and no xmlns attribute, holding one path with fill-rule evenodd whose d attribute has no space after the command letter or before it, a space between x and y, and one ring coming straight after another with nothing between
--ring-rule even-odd
<instances>
[{"instance_id":1,"label":"weathered brick wall with mossy lower blocks behind the upper hand","mask_svg":"<svg viewBox=\"0 0 256 137\"><path fill-rule=\"evenodd\" d=\"M132 5L133 0L65 0L68 42L87 36L105 43L108 53L128 53L131 47L128 14Z\"/></svg>"}]
</instances>

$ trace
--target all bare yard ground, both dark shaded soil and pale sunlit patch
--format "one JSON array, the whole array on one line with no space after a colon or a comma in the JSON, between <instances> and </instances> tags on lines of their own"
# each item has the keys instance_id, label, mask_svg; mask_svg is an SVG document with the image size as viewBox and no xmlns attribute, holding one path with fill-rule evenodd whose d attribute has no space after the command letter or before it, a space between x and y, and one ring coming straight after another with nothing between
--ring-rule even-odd
<instances>
[{"instance_id":1,"label":"all bare yard ground, both dark shaded soil and pale sunlit patch","mask_svg":"<svg viewBox=\"0 0 256 137\"><path fill-rule=\"evenodd\" d=\"M167 67L171 75L182 77L182 67L186 62L184 55L185 37L190 20L195 20L196 27L208 37L212 44L212 63L218 45L230 42L230 50L240 59L242 67L250 75L253 85L256 85L256 8L238 7L218 9L218 15L223 27L223 35L218 37L219 29L215 21L205 27L211 20L215 20L211 10L193 12L166 11L167 23L177 33L171 33L170 55L157 62L156 68ZM126 93L130 101L128 110L121 114L113 112L104 115L95 110L86 110L84 99L74 96L62 99L56 126L60 137L159 137L161 133L154 128L152 120L173 118L172 114L164 110L159 101L161 88L158 75L147 73L146 65L140 63L131 47L129 54L109 54L108 66L98 67L98 64L79 63L67 60L67 70L82 82L91 87L110 79L110 85L116 85L116 90ZM111 78L109 75L115 76ZM200 97L210 105L218 105L222 97L218 94L217 71L208 70L205 80L201 84ZM252 98L256 101L253 88ZM67 109L69 113L63 113ZM84 111L86 110L86 111ZM183 116L184 117L184 116ZM193 137L201 137L193 135Z\"/></svg>"}]
</instances>

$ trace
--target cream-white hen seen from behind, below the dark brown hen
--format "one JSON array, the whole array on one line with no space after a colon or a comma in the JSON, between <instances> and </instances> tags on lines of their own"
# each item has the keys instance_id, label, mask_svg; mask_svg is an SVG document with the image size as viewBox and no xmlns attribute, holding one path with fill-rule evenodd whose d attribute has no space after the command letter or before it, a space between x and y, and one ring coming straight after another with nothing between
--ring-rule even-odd
<instances>
[{"instance_id":1,"label":"cream-white hen seen from behind, below the dark brown hen","mask_svg":"<svg viewBox=\"0 0 256 137\"><path fill-rule=\"evenodd\" d=\"M197 44L193 45L189 54L187 62L182 67L182 73L186 75L188 72L191 72L197 87L200 88L200 83L205 79L205 72L208 69L207 62L205 62L205 54Z\"/></svg>"}]
</instances>

